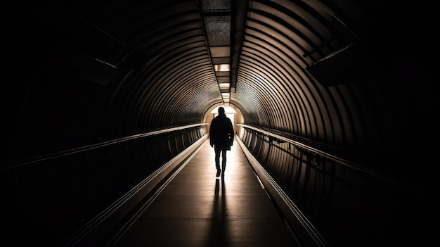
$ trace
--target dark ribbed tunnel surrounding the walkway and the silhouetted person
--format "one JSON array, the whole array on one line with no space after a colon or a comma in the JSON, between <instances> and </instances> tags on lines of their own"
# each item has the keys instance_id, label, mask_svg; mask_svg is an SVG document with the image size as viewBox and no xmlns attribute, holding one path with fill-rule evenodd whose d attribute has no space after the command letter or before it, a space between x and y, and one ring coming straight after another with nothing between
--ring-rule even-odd
<instances>
[{"instance_id":1,"label":"dark ribbed tunnel surrounding the walkway and the silhouetted person","mask_svg":"<svg viewBox=\"0 0 440 247\"><path fill-rule=\"evenodd\" d=\"M299 246L421 244L435 173L429 8L8 4L2 241L69 246L80 233L77 246L100 246L206 144L224 106Z\"/></svg>"}]
</instances>

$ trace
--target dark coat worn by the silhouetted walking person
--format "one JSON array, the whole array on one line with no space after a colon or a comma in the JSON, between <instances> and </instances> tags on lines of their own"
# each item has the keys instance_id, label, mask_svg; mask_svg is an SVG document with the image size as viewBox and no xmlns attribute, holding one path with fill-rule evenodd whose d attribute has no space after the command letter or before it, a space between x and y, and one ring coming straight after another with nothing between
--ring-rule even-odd
<instances>
[{"instance_id":1,"label":"dark coat worn by the silhouetted walking person","mask_svg":"<svg viewBox=\"0 0 440 247\"><path fill-rule=\"evenodd\" d=\"M231 119L225 114L217 115L209 127L209 143L221 150L231 150L234 140L234 128Z\"/></svg>"}]
</instances>

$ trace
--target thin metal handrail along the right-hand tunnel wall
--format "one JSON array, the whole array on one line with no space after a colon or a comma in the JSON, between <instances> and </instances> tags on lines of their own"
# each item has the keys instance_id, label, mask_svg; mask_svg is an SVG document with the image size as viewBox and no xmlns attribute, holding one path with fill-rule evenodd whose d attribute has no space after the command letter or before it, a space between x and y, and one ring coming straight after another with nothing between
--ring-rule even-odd
<instances>
[{"instance_id":1,"label":"thin metal handrail along the right-hand tunnel wall","mask_svg":"<svg viewBox=\"0 0 440 247\"><path fill-rule=\"evenodd\" d=\"M367 167L363 167L361 165L353 163L347 159L340 157L340 155L338 156L338 154L336 154L336 151L335 151L335 153L324 151L325 148L335 149L335 147L332 147L330 145L321 144L316 141L304 139L302 137L297 137L294 134L289 134L287 132L281 132L276 129L269 129L269 128L265 128L265 127L255 127L252 125L243 125L243 124L237 124L237 125L240 125L242 127L248 128L248 129L254 129L257 132L261 132L261 133L266 134L268 136L275 137L276 139L280 139L282 141L289 142L290 144L293 144L295 146L299 146L301 148L304 148L308 151L317 153L320 156L323 156L325 158L328 158L329 160L333 160L337 163L340 163L342 165L350 167L351 169L358 170L359 172L364 172L369 175L372 175L373 177L376 177L377 179L381 179L382 181L388 182L389 184L394 184L396 186L406 188L406 186L403 186L403 184L401 184L401 182L398 182L396 179L394 179L392 177L388 177L386 175L381 174L380 172L376 172L375 170L371 170L371 169L368 169ZM315 146L319 146L319 148L312 146L312 144L315 144ZM339 148L339 151L343 151L343 150ZM406 188L406 189L408 189L408 188Z\"/></svg>"}]
</instances>

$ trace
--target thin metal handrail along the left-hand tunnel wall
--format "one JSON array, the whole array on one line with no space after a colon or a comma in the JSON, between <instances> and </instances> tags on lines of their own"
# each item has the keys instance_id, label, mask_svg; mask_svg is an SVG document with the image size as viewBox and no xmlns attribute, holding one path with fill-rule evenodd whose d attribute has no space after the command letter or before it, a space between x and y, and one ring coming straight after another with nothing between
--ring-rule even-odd
<instances>
[{"instance_id":1,"label":"thin metal handrail along the left-hand tunnel wall","mask_svg":"<svg viewBox=\"0 0 440 247\"><path fill-rule=\"evenodd\" d=\"M157 129L155 131L151 131L151 132L145 132L145 133L141 133L141 134L133 134L130 135L128 137L121 137L121 138L117 138L117 139L113 139L110 141L103 141L97 144L91 144L91 145L87 145L87 146L81 146L78 148L71 148L71 149L67 149L65 151L59 151L56 153L48 153L42 156L36 156L36 157L32 157L32 158L26 158L23 160L14 160L11 161L9 163L7 163L8 165L6 165L5 167L0 167L0 171L3 170L8 170L8 169L13 169L16 167L20 167L23 165L29 165L31 163L37 163L39 161L43 161L43 160L50 160L52 158L58 158L58 157L62 157L62 156L68 156L70 154L73 153L81 153L84 151L89 151L91 149L94 148L101 148L103 146L110 146L112 144L117 144L117 143L121 143L124 141L130 141L133 139L139 139L139 138L143 138L143 137L150 137L150 136L154 136L157 134L165 134L165 133L169 133L169 132L174 132L177 130L181 130L181 129L189 129L189 128L193 128L193 127L198 127L198 126L202 126L202 125L209 125L209 123L197 123L197 124L191 124L191 125L181 125L179 127L166 127L166 128L161 128L161 129Z\"/></svg>"}]
</instances>

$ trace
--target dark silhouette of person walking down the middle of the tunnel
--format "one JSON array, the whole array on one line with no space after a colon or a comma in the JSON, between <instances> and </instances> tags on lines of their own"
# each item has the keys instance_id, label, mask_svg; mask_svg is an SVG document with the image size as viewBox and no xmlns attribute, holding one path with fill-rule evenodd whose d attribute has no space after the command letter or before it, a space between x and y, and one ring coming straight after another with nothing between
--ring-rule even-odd
<instances>
[{"instance_id":1,"label":"dark silhouette of person walking down the middle of the tunnel","mask_svg":"<svg viewBox=\"0 0 440 247\"><path fill-rule=\"evenodd\" d=\"M226 168L226 151L231 150L234 141L234 128L231 119L226 117L225 108L219 107L219 115L211 122L209 128L209 144L214 147L215 166L217 168L216 177L225 174ZM221 169L220 169L220 153L221 153Z\"/></svg>"}]
</instances>

